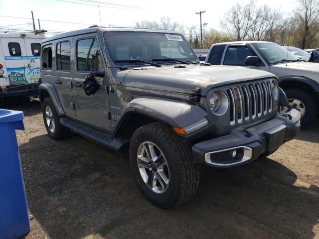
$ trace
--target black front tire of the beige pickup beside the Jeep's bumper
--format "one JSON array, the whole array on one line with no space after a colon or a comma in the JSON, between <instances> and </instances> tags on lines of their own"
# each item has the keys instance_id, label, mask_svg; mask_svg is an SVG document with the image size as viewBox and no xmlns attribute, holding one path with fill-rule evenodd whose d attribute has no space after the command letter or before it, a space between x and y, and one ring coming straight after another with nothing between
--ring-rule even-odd
<instances>
[{"instance_id":1,"label":"black front tire of the beige pickup beside the Jeep's bumper","mask_svg":"<svg viewBox=\"0 0 319 239\"><path fill-rule=\"evenodd\" d=\"M305 115L301 118L301 126L307 127L316 117L317 106L313 98L302 90L287 89L285 90L287 99L300 100L305 105Z\"/></svg>"}]
</instances>

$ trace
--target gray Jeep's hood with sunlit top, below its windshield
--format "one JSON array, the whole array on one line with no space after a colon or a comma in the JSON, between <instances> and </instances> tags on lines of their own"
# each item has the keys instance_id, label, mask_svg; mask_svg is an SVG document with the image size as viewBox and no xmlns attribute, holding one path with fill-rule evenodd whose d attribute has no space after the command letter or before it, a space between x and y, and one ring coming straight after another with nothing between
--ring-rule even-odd
<instances>
[{"instance_id":1,"label":"gray Jeep's hood with sunlit top, below its windshield","mask_svg":"<svg viewBox=\"0 0 319 239\"><path fill-rule=\"evenodd\" d=\"M180 68L184 67L184 68ZM211 88L230 83L275 77L273 74L238 66L176 65L129 70L123 86L190 94L195 87L201 95Z\"/></svg>"}]
</instances>

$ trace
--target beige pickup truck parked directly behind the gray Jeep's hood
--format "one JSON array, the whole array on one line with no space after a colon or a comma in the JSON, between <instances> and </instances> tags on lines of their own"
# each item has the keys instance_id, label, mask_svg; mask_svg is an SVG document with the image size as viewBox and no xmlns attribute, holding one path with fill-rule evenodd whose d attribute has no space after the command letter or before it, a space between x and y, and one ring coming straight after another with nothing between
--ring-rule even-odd
<instances>
[{"instance_id":1,"label":"beige pickup truck parked directly behind the gray Jeep's hood","mask_svg":"<svg viewBox=\"0 0 319 239\"><path fill-rule=\"evenodd\" d=\"M318 63L303 62L282 46L265 41L214 44L205 62L211 65L243 66L275 74L289 105L301 112L302 125L307 126L315 119L319 109Z\"/></svg>"}]
</instances>

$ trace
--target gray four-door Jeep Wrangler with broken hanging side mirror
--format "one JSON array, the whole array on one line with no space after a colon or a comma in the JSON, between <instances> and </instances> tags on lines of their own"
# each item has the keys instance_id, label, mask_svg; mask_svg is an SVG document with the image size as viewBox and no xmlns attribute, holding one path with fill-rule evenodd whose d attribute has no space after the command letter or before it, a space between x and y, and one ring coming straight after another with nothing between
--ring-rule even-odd
<instances>
[{"instance_id":1,"label":"gray four-door Jeep Wrangler with broken hanging side mirror","mask_svg":"<svg viewBox=\"0 0 319 239\"><path fill-rule=\"evenodd\" d=\"M129 143L137 185L153 204L190 199L199 165L265 157L300 131L276 77L200 66L173 31L87 28L43 40L40 102L52 139L70 130L119 150Z\"/></svg>"}]
</instances>

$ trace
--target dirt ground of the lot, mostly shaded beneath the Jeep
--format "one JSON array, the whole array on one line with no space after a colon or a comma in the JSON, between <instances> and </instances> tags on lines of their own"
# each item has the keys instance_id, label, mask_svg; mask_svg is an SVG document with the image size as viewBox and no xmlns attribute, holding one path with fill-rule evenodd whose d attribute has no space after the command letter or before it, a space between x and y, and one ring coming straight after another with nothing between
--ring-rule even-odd
<instances>
[{"instance_id":1,"label":"dirt ground of the lot, mostly shaded beneath the Jeep","mask_svg":"<svg viewBox=\"0 0 319 239\"><path fill-rule=\"evenodd\" d=\"M26 239L319 239L319 118L265 159L201 168L195 197L162 210L150 204L120 152L74 135L51 140L37 100L17 131L31 232Z\"/></svg>"}]
</instances>

